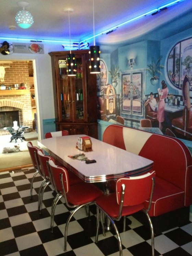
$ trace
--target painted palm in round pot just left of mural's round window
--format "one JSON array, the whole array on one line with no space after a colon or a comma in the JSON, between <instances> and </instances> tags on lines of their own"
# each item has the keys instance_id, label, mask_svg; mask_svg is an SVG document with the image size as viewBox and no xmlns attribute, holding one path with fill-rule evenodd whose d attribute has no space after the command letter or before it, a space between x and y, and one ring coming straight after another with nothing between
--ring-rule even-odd
<instances>
[{"instance_id":1,"label":"painted palm in round pot just left of mural's round window","mask_svg":"<svg viewBox=\"0 0 192 256\"><path fill-rule=\"evenodd\" d=\"M151 84L155 85L158 83L159 81L159 77L158 75L162 74L160 69L163 69L164 66L160 65L160 60L162 59L163 56L160 56L157 61L155 61L154 59L152 59L152 63L147 65L146 71L148 72L148 74L150 74L152 76L152 78L150 79Z\"/></svg>"}]
</instances>

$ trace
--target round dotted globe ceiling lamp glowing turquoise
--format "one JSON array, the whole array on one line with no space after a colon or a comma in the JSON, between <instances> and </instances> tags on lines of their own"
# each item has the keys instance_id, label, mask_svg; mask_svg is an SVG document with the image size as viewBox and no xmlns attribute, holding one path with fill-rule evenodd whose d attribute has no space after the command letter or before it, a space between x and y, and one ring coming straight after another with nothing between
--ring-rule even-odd
<instances>
[{"instance_id":1,"label":"round dotted globe ceiling lamp glowing turquoise","mask_svg":"<svg viewBox=\"0 0 192 256\"><path fill-rule=\"evenodd\" d=\"M18 2L20 7L23 7L22 11L17 12L15 16L16 24L21 28L29 28L33 25L33 16L30 12L25 11L25 7L29 6L27 2Z\"/></svg>"}]
</instances>

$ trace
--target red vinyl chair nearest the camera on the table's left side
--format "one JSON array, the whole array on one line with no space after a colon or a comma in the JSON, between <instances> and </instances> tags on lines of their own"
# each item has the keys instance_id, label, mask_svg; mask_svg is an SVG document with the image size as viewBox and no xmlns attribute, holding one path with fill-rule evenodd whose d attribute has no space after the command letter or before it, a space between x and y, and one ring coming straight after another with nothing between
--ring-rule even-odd
<instances>
[{"instance_id":1,"label":"red vinyl chair nearest the camera on the table's left side","mask_svg":"<svg viewBox=\"0 0 192 256\"><path fill-rule=\"evenodd\" d=\"M75 208L67 219L64 231L64 251L67 251L68 226L73 215L82 207L93 203L95 199L103 195L103 191L90 183L70 185L68 171L64 167L57 166L50 159L49 171L57 193L62 194L69 208Z\"/></svg>"}]
</instances>

